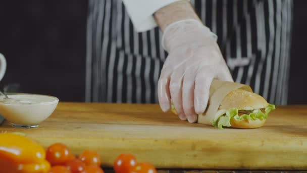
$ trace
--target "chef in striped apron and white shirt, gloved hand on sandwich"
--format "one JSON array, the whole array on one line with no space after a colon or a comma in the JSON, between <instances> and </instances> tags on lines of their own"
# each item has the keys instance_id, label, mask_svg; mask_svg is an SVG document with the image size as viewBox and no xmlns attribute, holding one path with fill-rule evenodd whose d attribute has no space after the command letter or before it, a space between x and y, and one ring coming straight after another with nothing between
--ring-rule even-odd
<instances>
[{"instance_id":1,"label":"chef in striped apron and white shirt, gloved hand on sandwich","mask_svg":"<svg viewBox=\"0 0 307 173\"><path fill-rule=\"evenodd\" d=\"M213 79L287 103L292 1L89 0L88 102L171 99L195 122Z\"/></svg>"}]
</instances>

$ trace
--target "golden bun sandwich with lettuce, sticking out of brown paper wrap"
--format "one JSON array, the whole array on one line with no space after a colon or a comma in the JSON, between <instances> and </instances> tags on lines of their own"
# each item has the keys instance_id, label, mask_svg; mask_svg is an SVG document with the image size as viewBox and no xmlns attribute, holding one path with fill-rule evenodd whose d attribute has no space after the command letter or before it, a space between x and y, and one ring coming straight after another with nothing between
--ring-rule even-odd
<instances>
[{"instance_id":1,"label":"golden bun sandwich with lettuce, sticking out of brown paper wrap","mask_svg":"<svg viewBox=\"0 0 307 173\"><path fill-rule=\"evenodd\" d=\"M237 89L228 93L220 103L211 125L217 128L259 128L274 109L275 105L260 95ZM173 105L172 112L177 114Z\"/></svg>"}]
</instances>

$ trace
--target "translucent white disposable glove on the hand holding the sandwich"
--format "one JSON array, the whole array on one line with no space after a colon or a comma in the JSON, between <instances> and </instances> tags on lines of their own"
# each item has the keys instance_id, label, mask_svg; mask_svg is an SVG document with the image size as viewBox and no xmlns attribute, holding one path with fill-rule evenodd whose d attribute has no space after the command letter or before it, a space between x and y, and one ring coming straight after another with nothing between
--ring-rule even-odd
<instances>
[{"instance_id":1,"label":"translucent white disposable glove on the hand holding the sandwich","mask_svg":"<svg viewBox=\"0 0 307 173\"><path fill-rule=\"evenodd\" d=\"M162 46L169 53L158 82L161 109L171 100L182 120L195 122L208 104L212 80L233 81L217 36L197 20L181 20L164 31Z\"/></svg>"}]
</instances>

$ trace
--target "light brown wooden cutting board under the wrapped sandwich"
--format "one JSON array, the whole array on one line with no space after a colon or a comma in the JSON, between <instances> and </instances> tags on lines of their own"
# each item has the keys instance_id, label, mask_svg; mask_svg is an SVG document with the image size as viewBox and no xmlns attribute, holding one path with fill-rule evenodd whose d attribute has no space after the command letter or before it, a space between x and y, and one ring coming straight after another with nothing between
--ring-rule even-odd
<instances>
[{"instance_id":1,"label":"light brown wooden cutting board under the wrapped sandwich","mask_svg":"<svg viewBox=\"0 0 307 173\"><path fill-rule=\"evenodd\" d=\"M259 129L190 124L158 105L60 103L35 129L12 128L44 147L62 142L74 154L96 150L105 166L120 153L159 168L307 169L307 106L277 106Z\"/></svg>"}]
</instances>

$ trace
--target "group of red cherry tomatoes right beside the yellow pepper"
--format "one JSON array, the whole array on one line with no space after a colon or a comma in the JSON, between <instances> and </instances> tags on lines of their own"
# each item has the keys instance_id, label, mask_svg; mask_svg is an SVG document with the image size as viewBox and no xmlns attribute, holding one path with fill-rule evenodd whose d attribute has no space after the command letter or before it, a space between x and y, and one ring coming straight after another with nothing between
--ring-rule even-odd
<instances>
[{"instance_id":1,"label":"group of red cherry tomatoes right beside the yellow pepper","mask_svg":"<svg viewBox=\"0 0 307 173\"><path fill-rule=\"evenodd\" d=\"M52 165L48 173L104 173L97 152L85 150L79 157L61 143L50 145L46 150L46 160Z\"/></svg>"}]
</instances>

